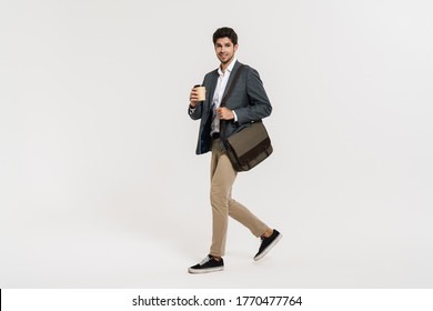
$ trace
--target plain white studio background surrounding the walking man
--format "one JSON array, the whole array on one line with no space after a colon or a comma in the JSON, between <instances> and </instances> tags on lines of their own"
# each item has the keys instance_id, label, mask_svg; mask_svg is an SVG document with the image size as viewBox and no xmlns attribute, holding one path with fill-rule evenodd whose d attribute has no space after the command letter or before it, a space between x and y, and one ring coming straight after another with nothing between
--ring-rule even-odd
<instances>
[{"instance_id":1,"label":"plain white studio background surrounding the walking man","mask_svg":"<svg viewBox=\"0 0 433 311\"><path fill-rule=\"evenodd\" d=\"M0 288L432 288L431 1L0 2ZM284 235L211 233L191 87L213 31L274 107L234 197Z\"/></svg>"}]
</instances>

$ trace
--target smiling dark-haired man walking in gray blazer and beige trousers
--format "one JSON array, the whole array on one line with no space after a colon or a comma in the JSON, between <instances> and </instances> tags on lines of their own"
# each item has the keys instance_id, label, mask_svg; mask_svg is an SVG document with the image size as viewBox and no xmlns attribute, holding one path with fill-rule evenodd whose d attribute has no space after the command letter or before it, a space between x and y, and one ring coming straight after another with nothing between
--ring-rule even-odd
<instances>
[{"instance_id":1,"label":"smiling dark-haired man walking in gray blazer and beige trousers","mask_svg":"<svg viewBox=\"0 0 433 311\"><path fill-rule=\"evenodd\" d=\"M250 210L232 199L232 185L236 178L220 139L221 122L225 122L225 134L230 137L252 121L271 114L272 107L264 91L256 70L243 66L239 80L226 101L220 107L224 93L229 90L240 62L235 58L238 34L231 28L220 28L213 33L213 44L220 67L204 77L207 89L204 102L199 102L195 89L190 93L189 114L193 120L201 120L197 154L212 151L211 159L211 205L212 205L212 244L207 258L189 268L190 273L204 273L224 269L222 257L225 251L225 238L229 215L245 225L262 242L254 260L262 259L282 235L269 228Z\"/></svg>"}]
</instances>

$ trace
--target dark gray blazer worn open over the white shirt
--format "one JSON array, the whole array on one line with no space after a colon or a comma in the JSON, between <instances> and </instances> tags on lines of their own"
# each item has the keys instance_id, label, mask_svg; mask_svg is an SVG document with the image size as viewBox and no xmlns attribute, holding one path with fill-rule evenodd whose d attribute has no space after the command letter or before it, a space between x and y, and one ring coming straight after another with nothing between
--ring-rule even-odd
<instances>
[{"instance_id":1,"label":"dark gray blazer worn open over the white shirt","mask_svg":"<svg viewBox=\"0 0 433 311\"><path fill-rule=\"evenodd\" d=\"M230 73L224 96L231 86L239 66L240 62L236 61L233 67L233 71ZM218 78L218 69L209 72L204 77L203 86L207 88L207 99L203 103L199 104L195 110L188 110L191 119L201 120L195 150L197 154L207 153L211 150L211 104ZM252 121L261 120L271 114L272 106L268 99L266 92L264 91L259 72L255 69L249 66L243 67L239 80L226 101L226 108L234 110L238 116L238 122L234 122L234 120L225 121L225 132L228 138L243 128L249 127Z\"/></svg>"}]
</instances>

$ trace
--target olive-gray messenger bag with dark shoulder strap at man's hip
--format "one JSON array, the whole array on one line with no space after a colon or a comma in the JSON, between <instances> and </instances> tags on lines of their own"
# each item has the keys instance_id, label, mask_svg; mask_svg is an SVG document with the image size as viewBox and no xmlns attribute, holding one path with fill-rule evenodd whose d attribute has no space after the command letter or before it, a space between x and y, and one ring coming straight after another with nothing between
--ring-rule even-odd
<instances>
[{"instance_id":1,"label":"olive-gray messenger bag with dark shoulder strap at man's hip","mask_svg":"<svg viewBox=\"0 0 433 311\"><path fill-rule=\"evenodd\" d=\"M236 76L234 76L233 82L221 102L221 107L225 106L241 70L242 66L238 69ZM262 120L251 122L249 127L233 133L229 138L225 138L225 122L221 122L221 139L229 159L238 172L251 170L271 156L273 151L271 139Z\"/></svg>"}]
</instances>

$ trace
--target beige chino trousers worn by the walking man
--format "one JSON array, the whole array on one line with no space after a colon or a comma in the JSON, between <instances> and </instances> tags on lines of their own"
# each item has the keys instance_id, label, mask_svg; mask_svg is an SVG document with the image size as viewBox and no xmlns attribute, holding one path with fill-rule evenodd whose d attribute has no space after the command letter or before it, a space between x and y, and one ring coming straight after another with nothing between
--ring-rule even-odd
<instances>
[{"instance_id":1,"label":"beige chino trousers worn by the walking man","mask_svg":"<svg viewBox=\"0 0 433 311\"><path fill-rule=\"evenodd\" d=\"M268 225L249 209L232 199L232 187L238 172L216 139L212 143L211 160L211 205L212 205L212 245L210 254L223 257L229 224L229 215L245 225L255 235L262 235Z\"/></svg>"}]
</instances>

